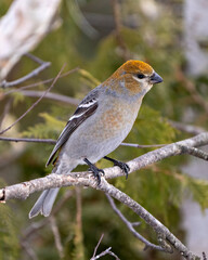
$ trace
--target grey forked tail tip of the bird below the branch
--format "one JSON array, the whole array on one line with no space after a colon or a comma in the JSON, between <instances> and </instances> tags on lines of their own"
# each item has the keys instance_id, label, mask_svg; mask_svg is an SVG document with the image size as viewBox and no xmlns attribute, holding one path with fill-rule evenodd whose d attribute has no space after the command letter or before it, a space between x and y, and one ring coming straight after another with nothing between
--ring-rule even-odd
<instances>
[{"instance_id":1,"label":"grey forked tail tip of the bird below the branch","mask_svg":"<svg viewBox=\"0 0 208 260\"><path fill-rule=\"evenodd\" d=\"M60 187L43 191L36 204L34 205L32 209L30 210L29 219L36 217L39 213L48 217L51 213L58 191Z\"/></svg>"}]
</instances>

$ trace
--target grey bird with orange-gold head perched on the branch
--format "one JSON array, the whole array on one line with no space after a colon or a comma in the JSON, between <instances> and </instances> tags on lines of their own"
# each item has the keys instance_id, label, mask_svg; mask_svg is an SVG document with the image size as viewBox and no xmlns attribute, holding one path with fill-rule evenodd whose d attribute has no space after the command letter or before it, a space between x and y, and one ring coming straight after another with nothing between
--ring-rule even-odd
<instances>
[{"instance_id":1,"label":"grey bird with orange-gold head perched on the branch","mask_svg":"<svg viewBox=\"0 0 208 260\"><path fill-rule=\"evenodd\" d=\"M106 81L90 91L57 139L47 166L54 161L53 172L67 174L78 165L87 164L98 178L100 172L93 164L105 158L119 166L128 176L128 165L106 157L117 148L130 132L142 100L161 77L146 63L128 61ZM58 157L54 156L58 153ZM54 159L54 160L53 160ZM48 217L58 187L42 192L29 212Z\"/></svg>"}]
</instances>

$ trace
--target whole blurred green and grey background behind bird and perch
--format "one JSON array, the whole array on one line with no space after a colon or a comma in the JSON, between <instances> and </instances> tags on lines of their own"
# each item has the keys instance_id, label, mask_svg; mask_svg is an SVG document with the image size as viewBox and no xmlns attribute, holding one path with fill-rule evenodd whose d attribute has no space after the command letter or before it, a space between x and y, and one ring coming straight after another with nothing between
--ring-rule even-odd
<instances>
[{"instance_id":1,"label":"whole blurred green and grey background behind bird and perch","mask_svg":"<svg viewBox=\"0 0 208 260\"><path fill-rule=\"evenodd\" d=\"M1 0L1 16L12 2ZM0 88L0 130L32 105L38 92L50 86L42 81L54 78L64 64L65 73L77 69L57 80L51 91L53 99L43 99L1 136L56 139L77 100L130 58L150 63L164 83L145 96L126 142L168 144L199 133L207 128L208 114L207 12L206 0L61 1L54 17L56 26L31 50L51 66L17 87ZM10 69L6 80L18 79L37 66L23 56ZM34 83L37 84L32 87ZM0 185L50 173L51 168L46 169L44 165L52 147L47 143L0 141ZM120 146L112 156L128 161L151 150L154 148ZM112 165L101 160L98 166ZM202 255L208 248L207 168L206 162L183 155L133 172L128 181L122 177L110 183ZM76 171L86 169L79 167ZM29 220L37 196L0 205L0 259L90 259L102 234L99 252L112 247L120 259L180 259L178 253L144 251L144 245L118 219L101 192L62 188L52 217ZM140 221L127 207L117 206L130 221ZM157 244L155 233L145 223L136 230Z\"/></svg>"}]
</instances>

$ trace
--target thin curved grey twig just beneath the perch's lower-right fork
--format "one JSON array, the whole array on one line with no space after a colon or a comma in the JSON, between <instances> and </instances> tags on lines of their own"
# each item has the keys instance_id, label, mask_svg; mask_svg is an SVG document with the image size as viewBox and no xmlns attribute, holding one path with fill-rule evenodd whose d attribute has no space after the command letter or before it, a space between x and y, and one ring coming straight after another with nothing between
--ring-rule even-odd
<instances>
[{"instance_id":1,"label":"thin curved grey twig just beneath the perch's lower-right fork","mask_svg":"<svg viewBox=\"0 0 208 260\"><path fill-rule=\"evenodd\" d=\"M133 225L135 225L135 223L131 223L129 222L126 217L120 212L120 210L116 207L116 204L114 203L114 199L108 195L105 194L109 205L112 206L113 210L118 214L118 217L122 220L122 222L127 225L127 227L130 230L130 232L138 238L140 239L142 243L144 243L145 248L153 248L153 249L157 249L159 251L165 251L165 249L160 246L154 245L151 242L148 242L146 238L144 238L142 235L140 235L133 227ZM136 223L138 224L138 223ZM171 249L172 252L172 249Z\"/></svg>"}]
</instances>

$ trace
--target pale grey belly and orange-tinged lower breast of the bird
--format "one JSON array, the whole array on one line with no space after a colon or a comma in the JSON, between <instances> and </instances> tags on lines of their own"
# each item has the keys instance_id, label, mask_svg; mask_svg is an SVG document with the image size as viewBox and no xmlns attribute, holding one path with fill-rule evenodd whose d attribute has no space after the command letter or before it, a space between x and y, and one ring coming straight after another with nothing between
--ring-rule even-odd
<instances>
[{"instance_id":1,"label":"pale grey belly and orange-tinged lower breast of the bird","mask_svg":"<svg viewBox=\"0 0 208 260\"><path fill-rule=\"evenodd\" d=\"M79 164L83 158L91 162L99 159L117 148L130 132L138 110L127 110L119 113L103 113L99 118L91 117L86 123L78 127L67 143L65 144L65 154L69 158L78 159Z\"/></svg>"}]
</instances>

